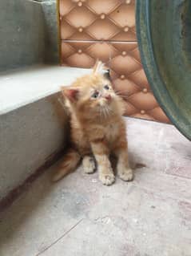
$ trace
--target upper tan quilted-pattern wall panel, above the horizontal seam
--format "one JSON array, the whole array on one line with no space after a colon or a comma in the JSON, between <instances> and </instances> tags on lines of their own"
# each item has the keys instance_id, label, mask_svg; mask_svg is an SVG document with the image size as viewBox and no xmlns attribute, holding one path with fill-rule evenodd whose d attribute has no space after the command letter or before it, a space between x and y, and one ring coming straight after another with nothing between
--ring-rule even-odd
<instances>
[{"instance_id":1,"label":"upper tan quilted-pattern wall panel, above the horizontal seam","mask_svg":"<svg viewBox=\"0 0 191 256\"><path fill-rule=\"evenodd\" d=\"M135 41L134 0L60 0L61 38Z\"/></svg>"}]
</instances>

